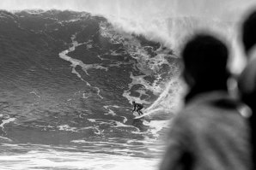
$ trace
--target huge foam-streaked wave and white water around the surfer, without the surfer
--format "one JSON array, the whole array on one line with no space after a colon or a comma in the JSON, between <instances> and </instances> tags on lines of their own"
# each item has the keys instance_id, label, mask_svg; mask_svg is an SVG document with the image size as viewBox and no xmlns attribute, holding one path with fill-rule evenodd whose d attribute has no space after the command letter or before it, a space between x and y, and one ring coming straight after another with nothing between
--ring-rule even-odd
<instances>
[{"instance_id":1,"label":"huge foam-streaked wave and white water around the surfer, without the surfer","mask_svg":"<svg viewBox=\"0 0 256 170\"><path fill-rule=\"evenodd\" d=\"M0 23L1 169L156 168L180 94L173 50L84 12Z\"/></svg>"}]
</instances>

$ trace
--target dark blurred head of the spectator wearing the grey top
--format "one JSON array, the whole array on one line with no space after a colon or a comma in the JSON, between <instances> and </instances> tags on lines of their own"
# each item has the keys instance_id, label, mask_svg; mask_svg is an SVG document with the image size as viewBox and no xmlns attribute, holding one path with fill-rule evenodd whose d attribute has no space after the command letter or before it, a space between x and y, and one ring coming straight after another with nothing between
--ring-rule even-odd
<instances>
[{"instance_id":1,"label":"dark blurred head of the spectator wearing the grey top","mask_svg":"<svg viewBox=\"0 0 256 170\"><path fill-rule=\"evenodd\" d=\"M221 40L200 33L191 38L181 53L184 79L191 88L214 91L227 88L229 50Z\"/></svg>"}]
</instances>

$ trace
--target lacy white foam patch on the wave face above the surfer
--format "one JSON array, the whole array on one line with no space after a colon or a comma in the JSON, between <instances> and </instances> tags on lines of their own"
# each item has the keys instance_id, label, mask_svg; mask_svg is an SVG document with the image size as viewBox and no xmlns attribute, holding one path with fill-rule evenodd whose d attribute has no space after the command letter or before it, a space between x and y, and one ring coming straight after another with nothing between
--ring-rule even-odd
<instances>
[{"instance_id":1,"label":"lacy white foam patch on the wave face above the surfer","mask_svg":"<svg viewBox=\"0 0 256 170\"><path fill-rule=\"evenodd\" d=\"M146 91L152 91L155 96L163 96L162 93L166 95L166 91L173 90L173 87L169 87L170 77L162 78L162 66L168 65L169 69L164 71L171 75L179 74L179 67L176 63L168 62L168 58L177 58L172 52L162 46L157 50L154 50L151 46L143 46L140 41L132 36L131 34L125 34L124 32L115 32L112 26L107 25L107 23L101 22L101 36L109 38L111 43L123 44L125 51L134 59L137 60L136 65L134 65L135 70L139 70L143 75L133 75L131 73L131 83L128 85L128 90L124 91L123 97L127 98L128 101L136 101L137 103L150 102L145 99L141 99L142 96L146 95ZM152 51L154 56L150 56L149 51ZM113 55L117 55L113 51ZM145 77L154 77L153 82L149 82ZM131 96L131 89L134 85L143 85L142 88L138 89L138 97ZM174 87L175 89L175 87ZM162 99L162 97L161 97ZM169 100L168 100L169 101ZM159 103L159 101L157 102ZM153 103L154 104L154 103Z\"/></svg>"}]
</instances>

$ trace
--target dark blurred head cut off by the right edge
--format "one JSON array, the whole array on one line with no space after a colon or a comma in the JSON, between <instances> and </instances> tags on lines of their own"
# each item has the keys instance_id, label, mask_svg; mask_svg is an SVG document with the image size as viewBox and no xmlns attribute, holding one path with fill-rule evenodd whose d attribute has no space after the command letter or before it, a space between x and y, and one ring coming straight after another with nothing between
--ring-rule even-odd
<instances>
[{"instance_id":1,"label":"dark blurred head cut off by the right edge","mask_svg":"<svg viewBox=\"0 0 256 170\"><path fill-rule=\"evenodd\" d=\"M247 16L242 25L242 43L246 53L256 44L256 10Z\"/></svg>"}]
</instances>

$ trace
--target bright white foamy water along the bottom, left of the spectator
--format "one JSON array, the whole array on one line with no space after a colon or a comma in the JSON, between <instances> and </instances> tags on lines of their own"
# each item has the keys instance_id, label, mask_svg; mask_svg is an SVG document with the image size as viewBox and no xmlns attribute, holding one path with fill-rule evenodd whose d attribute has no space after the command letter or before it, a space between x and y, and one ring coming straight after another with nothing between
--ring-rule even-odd
<instances>
[{"instance_id":1,"label":"bright white foamy water along the bottom, left of the spectator","mask_svg":"<svg viewBox=\"0 0 256 170\"><path fill-rule=\"evenodd\" d=\"M93 150L88 152L79 151L66 151L72 148L54 148L52 146L44 145L3 145L3 148L11 148L22 150L20 153L8 154L4 153L0 155L1 169L149 169L153 170L157 167L159 159L150 158L145 159L144 157L133 157L129 154L131 150L117 150L120 153L106 154L95 152L92 156ZM27 150L26 153L23 150ZM112 151L113 153L113 151ZM87 163L84 163L87 162ZM129 166L129 165L134 166Z\"/></svg>"}]
</instances>

